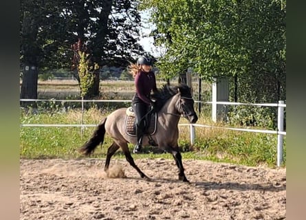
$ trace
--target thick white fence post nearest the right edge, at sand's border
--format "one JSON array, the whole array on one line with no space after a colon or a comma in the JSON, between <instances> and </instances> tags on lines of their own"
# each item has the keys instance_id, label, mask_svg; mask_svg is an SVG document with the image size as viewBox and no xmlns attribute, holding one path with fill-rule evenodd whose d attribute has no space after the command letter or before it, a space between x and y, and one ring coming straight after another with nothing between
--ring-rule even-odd
<instances>
[{"instance_id":1,"label":"thick white fence post nearest the right edge, at sand's border","mask_svg":"<svg viewBox=\"0 0 306 220\"><path fill-rule=\"evenodd\" d=\"M278 104L284 104L284 101L278 101ZM277 111L277 131L284 131L284 107L278 106ZM283 134L277 133L277 166L283 162Z\"/></svg>"}]
</instances>

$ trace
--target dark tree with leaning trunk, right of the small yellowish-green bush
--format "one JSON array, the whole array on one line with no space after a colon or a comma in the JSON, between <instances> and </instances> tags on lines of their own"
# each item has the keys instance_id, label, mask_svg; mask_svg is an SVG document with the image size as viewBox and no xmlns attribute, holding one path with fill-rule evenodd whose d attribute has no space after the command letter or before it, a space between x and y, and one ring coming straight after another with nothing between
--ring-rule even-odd
<instances>
[{"instance_id":1,"label":"dark tree with leaning trunk, right of the small yellowish-green bush","mask_svg":"<svg viewBox=\"0 0 306 220\"><path fill-rule=\"evenodd\" d=\"M88 6L76 8L75 14L74 4L69 4L72 13L67 13L67 17L74 18L74 32L78 33L78 39L86 42L93 62L100 67L127 65L137 50L143 50L137 43L140 26L137 4L126 0L91 1L91 4L83 1L83 4ZM87 22L84 22L85 17ZM89 88L87 98L99 95L99 69L93 74L94 84Z\"/></svg>"}]
</instances>

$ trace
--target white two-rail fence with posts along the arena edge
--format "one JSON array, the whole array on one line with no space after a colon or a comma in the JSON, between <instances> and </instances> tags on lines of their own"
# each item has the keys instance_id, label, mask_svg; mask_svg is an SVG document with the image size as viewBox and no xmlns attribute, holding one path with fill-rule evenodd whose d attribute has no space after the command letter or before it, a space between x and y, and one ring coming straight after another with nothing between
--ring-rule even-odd
<instances>
[{"instance_id":1,"label":"white two-rail fence with posts along the arena edge","mask_svg":"<svg viewBox=\"0 0 306 220\"><path fill-rule=\"evenodd\" d=\"M131 100L36 100L36 99L21 99L22 102L131 102ZM199 101L195 101L199 102ZM212 102L201 102L206 104L213 104ZM246 132L255 132L255 133L272 133L277 135L277 166L281 166L283 162L283 136L287 133L284 131L284 108L286 104L284 101L278 101L278 104L275 103L263 103L263 104L250 104L250 103L241 103L241 102L214 102L215 104L232 104L232 105L252 105L252 106L262 106L262 107L277 107L278 108L278 118L277 118L277 131L272 130L259 130L259 129L238 129L230 128L223 126L212 126L205 124L179 124L179 126L190 126L190 144L195 143L195 127L206 127L206 128L215 128L215 129L227 129L233 131L246 131ZM97 124L83 124L83 120L80 124L20 124L20 126L55 126L55 127L84 127L97 126Z\"/></svg>"}]
</instances>

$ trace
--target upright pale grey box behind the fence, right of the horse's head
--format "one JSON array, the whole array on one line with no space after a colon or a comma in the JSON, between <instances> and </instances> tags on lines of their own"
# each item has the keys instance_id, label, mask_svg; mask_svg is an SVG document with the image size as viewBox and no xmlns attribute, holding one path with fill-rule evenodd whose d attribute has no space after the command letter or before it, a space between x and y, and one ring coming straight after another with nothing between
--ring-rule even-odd
<instances>
[{"instance_id":1,"label":"upright pale grey box behind the fence, right of the horse's head","mask_svg":"<svg viewBox=\"0 0 306 220\"><path fill-rule=\"evenodd\" d=\"M229 100L228 78L214 78L212 83L212 121L225 121L228 113L226 104L217 104L217 102L228 102Z\"/></svg>"}]
</instances>

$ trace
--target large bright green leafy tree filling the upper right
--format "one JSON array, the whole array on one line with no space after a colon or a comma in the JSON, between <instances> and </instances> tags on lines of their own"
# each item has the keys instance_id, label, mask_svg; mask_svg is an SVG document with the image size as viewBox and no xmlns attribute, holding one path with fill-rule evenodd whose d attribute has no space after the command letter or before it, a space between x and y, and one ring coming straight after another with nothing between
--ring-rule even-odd
<instances>
[{"instance_id":1,"label":"large bright green leafy tree filling the upper right","mask_svg":"<svg viewBox=\"0 0 306 220\"><path fill-rule=\"evenodd\" d=\"M166 48L157 62L166 77L193 67L205 80L230 76L241 88L264 83L285 94L285 1L143 0L142 8L151 9L155 44Z\"/></svg>"}]
</instances>

